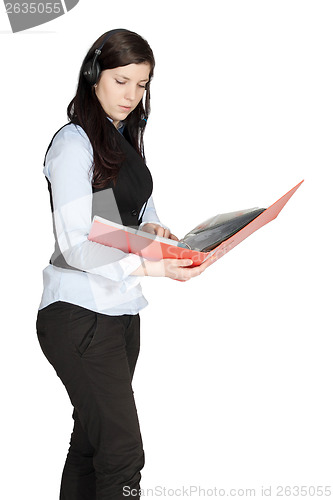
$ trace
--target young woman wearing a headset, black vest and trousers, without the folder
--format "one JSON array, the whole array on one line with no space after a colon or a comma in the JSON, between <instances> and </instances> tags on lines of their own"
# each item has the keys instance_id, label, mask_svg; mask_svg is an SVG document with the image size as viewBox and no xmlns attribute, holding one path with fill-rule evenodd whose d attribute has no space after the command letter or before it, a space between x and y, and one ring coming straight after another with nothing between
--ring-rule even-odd
<instances>
[{"instance_id":1,"label":"young woman wearing a headset, black vest and trousers, without the folder","mask_svg":"<svg viewBox=\"0 0 333 500\"><path fill-rule=\"evenodd\" d=\"M144 451L131 382L147 305L140 276L186 281L214 260L190 268L187 259L148 261L87 239L94 215L177 239L158 219L144 161L154 64L136 33L96 40L69 123L45 157L55 250L43 272L37 335L74 407L62 500L139 496Z\"/></svg>"}]
</instances>

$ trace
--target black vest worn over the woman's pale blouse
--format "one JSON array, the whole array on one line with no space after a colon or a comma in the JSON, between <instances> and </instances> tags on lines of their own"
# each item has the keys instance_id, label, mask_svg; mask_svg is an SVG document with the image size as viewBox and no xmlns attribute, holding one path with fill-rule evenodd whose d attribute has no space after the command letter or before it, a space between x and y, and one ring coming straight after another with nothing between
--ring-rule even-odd
<instances>
[{"instance_id":1,"label":"black vest worn over the woman's pale blouse","mask_svg":"<svg viewBox=\"0 0 333 500\"><path fill-rule=\"evenodd\" d=\"M69 124L64 126L67 125ZM111 123L110 126L113 127ZM52 145L53 139L61 129L59 129L53 136L47 148L45 159ZM130 144L126 129L124 130L124 136L116 131L116 137L119 141L119 146L125 155L125 160L120 167L115 184L111 180L105 188L92 188L93 199L91 217L93 219L95 215L99 215L104 219L117 222L118 224L137 228L142 222L142 216L145 211L147 201L152 194L153 180L145 162ZM53 213L52 185L48 179L46 180L48 183L50 204ZM143 207L144 210L139 218L140 211ZM55 237L55 248L50 259L50 264L65 269L75 269L67 264L65 258L60 252L54 221L53 232Z\"/></svg>"}]
</instances>

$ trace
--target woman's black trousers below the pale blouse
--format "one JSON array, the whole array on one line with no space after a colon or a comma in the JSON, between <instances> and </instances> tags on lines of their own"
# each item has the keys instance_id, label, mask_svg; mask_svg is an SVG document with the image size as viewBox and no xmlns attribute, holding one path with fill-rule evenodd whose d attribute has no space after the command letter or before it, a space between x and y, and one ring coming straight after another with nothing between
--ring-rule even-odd
<instances>
[{"instance_id":1,"label":"woman's black trousers below the pale blouse","mask_svg":"<svg viewBox=\"0 0 333 500\"><path fill-rule=\"evenodd\" d=\"M55 302L38 312L37 335L74 407L60 499L123 500L139 491L144 451L131 384L139 314Z\"/></svg>"}]
</instances>

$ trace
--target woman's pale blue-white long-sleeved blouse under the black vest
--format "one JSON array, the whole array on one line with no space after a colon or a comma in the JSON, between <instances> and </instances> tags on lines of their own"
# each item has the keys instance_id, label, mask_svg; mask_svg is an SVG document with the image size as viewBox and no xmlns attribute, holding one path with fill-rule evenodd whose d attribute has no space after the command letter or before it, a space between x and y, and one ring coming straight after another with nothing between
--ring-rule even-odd
<instances>
[{"instance_id":1,"label":"woman's pale blue-white long-sleeved blouse under the black vest","mask_svg":"<svg viewBox=\"0 0 333 500\"><path fill-rule=\"evenodd\" d=\"M148 302L140 277L130 274L144 259L87 239L92 214L92 163L93 149L84 130L74 124L62 128L47 153L43 173L51 182L60 250L67 263L78 270L48 265L43 271L39 309L64 301L108 315L137 314ZM143 207L139 217L142 211ZM148 222L167 227L160 222L152 197L141 226Z\"/></svg>"}]
</instances>

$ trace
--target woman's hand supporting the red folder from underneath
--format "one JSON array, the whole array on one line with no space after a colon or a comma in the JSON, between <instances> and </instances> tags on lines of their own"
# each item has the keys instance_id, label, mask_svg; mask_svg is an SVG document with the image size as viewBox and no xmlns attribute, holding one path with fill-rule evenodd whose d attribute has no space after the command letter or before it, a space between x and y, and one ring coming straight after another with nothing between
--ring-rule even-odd
<instances>
[{"instance_id":1,"label":"woman's hand supporting the red folder from underneath","mask_svg":"<svg viewBox=\"0 0 333 500\"><path fill-rule=\"evenodd\" d=\"M195 276L199 276L207 267L217 260L215 255L209 257L200 266L189 267L192 265L190 259L162 259L158 261L145 260L141 266L136 269L134 276L155 276L166 277L178 281L188 281Z\"/></svg>"}]
</instances>

